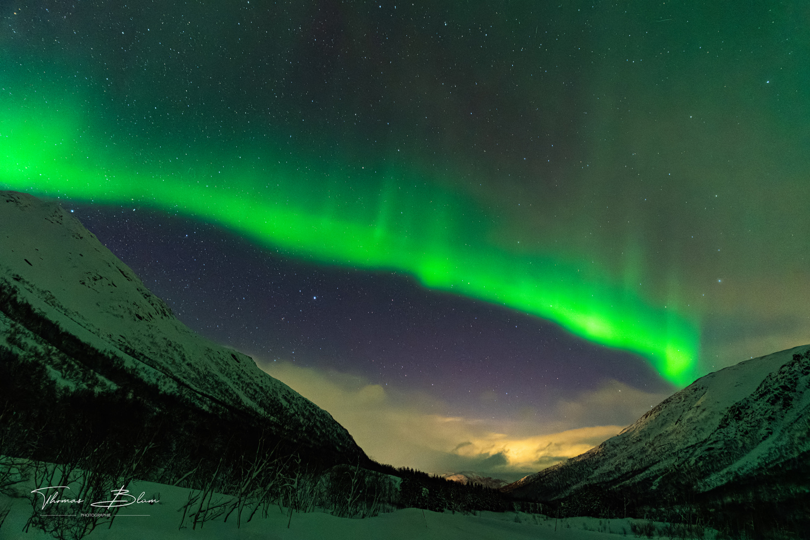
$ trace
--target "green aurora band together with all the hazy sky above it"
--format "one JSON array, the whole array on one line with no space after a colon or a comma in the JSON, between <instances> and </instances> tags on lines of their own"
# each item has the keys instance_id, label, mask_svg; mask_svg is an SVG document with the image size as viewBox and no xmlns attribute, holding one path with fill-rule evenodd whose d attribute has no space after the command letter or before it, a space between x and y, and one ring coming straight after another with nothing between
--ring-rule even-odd
<instances>
[{"instance_id":1,"label":"green aurora band together with all the hazy sky above it","mask_svg":"<svg viewBox=\"0 0 810 540\"><path fill-rule=\"evenodd\" d=\"M7 2L0 187L393 271L682 386L810 341L808 16Z\"/></svg>"}]
</instances>

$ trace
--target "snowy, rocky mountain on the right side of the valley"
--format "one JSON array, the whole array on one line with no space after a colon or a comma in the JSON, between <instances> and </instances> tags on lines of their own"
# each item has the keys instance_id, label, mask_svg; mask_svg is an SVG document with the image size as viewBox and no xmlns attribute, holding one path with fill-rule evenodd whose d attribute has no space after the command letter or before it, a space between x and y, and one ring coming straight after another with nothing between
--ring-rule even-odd
<instances>
[{"instance_id":1,"label":"snowy, rocky mountain on the right side of the valley","mask_svg":"<svg viewBox=\"0 0 810 540\"><path fill-rule=\"evenodd\" d=\"M619 435L504 488L539 501L700 502L810 518L810 346L710 373ZM805 508L801 510L801 508ZM762 520L768 521L761 516Z\"/></svg>"}]
</instances>

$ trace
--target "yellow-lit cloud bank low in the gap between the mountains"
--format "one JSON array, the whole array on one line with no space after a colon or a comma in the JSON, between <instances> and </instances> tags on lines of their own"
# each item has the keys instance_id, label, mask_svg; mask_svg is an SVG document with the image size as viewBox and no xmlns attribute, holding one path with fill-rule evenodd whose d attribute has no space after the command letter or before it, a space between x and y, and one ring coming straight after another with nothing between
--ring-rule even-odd
<instances>
[{"instance_id":1,"label":"yellow-lit cloud bank low in the gap between the mountains","mask_svg":"<svg viewBox=\"0 0 810 540\"><path fill-rule=\"evenodd\" d=\"M397 393L358 376L281 361L258 365L328 410L370 457L434 474L476 471L518 479L586 452L663 399L607 381L559 402L551 422L535 415L478 419L447 415L449 407L427 394Z\"/></svg>"}]
</instances>

